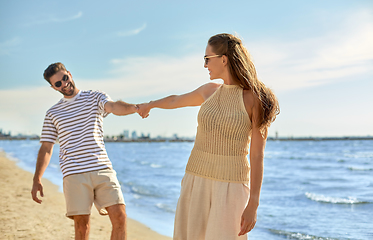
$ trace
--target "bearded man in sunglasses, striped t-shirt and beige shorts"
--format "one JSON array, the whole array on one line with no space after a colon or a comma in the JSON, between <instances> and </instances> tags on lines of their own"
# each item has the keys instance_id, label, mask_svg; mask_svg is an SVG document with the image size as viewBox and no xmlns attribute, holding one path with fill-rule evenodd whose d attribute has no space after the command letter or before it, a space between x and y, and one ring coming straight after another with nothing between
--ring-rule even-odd
<instances>
[{"instance_id":1,"label":"bearded man in sunglasses, striped t-shirt and beige shorts","mask_svg":"<svg viewBox=\"0 0 373 240\"><path fill-rule=\"evenodd\" d=\"M88 239L90 213L94 203L100 214L112 223L111 239L126 239L126 210L122 191L107 156L103 140L103 118L137 111L137 106L113 102L99 91L80 91L62 63L44 71L51 87L64 96L45 116L32 186L32 198L42 201L41 178L47 168L53 145L60 143L60 167L66 200L66 216L74 220L75 239Z\"/></svg>"}]
</instances>

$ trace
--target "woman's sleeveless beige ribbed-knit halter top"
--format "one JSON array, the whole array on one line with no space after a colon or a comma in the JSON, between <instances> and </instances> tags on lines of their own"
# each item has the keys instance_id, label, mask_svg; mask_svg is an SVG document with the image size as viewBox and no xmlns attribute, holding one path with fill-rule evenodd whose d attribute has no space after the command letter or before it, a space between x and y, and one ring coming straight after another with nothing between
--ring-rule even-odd
<instances>
[{"instance_id":1,"label":"woman's sleeveless beige ribbed-knit halter top","mask_svg":"<svg viewBox=\"0 0 373 240\"><path fill-rule=\"evenodd\" d=\"M243 89L221 85L202 105L185 172L224 182L248 183L251 121Z\"/></svg>"}]
</instances>

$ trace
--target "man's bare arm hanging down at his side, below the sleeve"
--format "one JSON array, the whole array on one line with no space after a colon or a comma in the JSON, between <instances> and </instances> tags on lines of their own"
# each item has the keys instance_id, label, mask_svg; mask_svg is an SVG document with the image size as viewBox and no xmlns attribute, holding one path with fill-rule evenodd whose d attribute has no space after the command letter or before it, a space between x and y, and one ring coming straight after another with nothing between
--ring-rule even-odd
<instances>
[{"instance_id":1,"label":"man's bare arm hanging down at his side, below the sleeve","mask_svg":"<svg viewBox=\"0 0 373 240\"><path fill-rule=\"evenodd\" d=\"M32 190L31 190L32 199L37 203L42 202L37 197L37 193L40 191L40 196L42 197L44 196L43 185L41 184L41 178L51 160L51 156L53 152L53 145L54 143L51 143L51 142L42 142L41 147L39 149L38 159L36 162L35 174L34 174L34 179L33 179L33 184L32 184Z\"/></svg>"}]
</instances>

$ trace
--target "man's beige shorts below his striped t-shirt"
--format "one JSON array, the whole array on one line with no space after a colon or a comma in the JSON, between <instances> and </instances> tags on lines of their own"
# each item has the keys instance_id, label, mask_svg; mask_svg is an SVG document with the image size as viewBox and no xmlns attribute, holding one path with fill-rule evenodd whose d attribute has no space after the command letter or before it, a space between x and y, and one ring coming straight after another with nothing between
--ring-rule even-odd
<instances>
[{"instance_id":1,"label":"man's beige shorts below his striped t-shirt","mask_svg":"<svg viewBox=\"0 0 373 240\"><path fill-rule=\"evenodd\" d=\"M106 207L125 204L116 172L104 169L67 176L63 179L66 216L90 215L94 203L101 215Z\"/></svg>"}]
</instances>

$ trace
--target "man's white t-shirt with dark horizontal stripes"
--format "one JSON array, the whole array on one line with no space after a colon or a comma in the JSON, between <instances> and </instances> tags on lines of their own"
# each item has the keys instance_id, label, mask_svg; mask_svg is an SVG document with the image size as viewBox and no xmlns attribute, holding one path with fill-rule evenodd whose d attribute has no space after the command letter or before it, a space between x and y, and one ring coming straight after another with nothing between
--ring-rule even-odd
<instances>
[{"instance_id":1,"label":"man's white t-shirt with dark horizontal stripes","mask_svg":"<svg viewBox=\"0 0 373 240\"><path fill-rule=\"evenodd\" d=\"M45 116L40 142L60 143L63 177L112 168L104 145L104 105L111 101L104 92L80 91L62 98Z\"/></svg>"}]
</instances>

